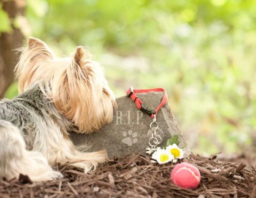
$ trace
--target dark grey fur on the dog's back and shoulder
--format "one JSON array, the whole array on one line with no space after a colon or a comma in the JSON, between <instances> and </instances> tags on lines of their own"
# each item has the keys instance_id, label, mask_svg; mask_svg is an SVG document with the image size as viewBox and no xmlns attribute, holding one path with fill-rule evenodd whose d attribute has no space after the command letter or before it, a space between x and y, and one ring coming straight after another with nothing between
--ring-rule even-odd
<instances>
[{"instance_id":1,"label":"dark grey fur on the dog's back and shoulder","mask_svg":"<svg viewBox=\"0 0 256 198\"><path fill-rule=\"evenodd\" d=\"M0 101L0 120L9 121L21 130L28 150L33 149L36 133L47 130L42 122L54 122L64 133L73 128L38 86L33 86L12 100Z\"/></svg>"}]
</instances>

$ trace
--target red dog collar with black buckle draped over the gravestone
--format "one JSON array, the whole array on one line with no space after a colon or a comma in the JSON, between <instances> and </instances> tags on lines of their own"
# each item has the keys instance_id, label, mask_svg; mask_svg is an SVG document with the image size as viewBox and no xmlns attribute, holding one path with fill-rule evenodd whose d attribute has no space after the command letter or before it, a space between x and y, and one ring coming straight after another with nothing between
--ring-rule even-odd
<instances>
[{"instance_id":1,"label":"red dog collar with black buckle draped over the gravestone","mask_svg":"<svg viewBox=\"0 0 256 198\"><path fill-rule=\"evenodd\" d=\"M143 102L141 101L141 99L139 99L139 97L137 97L137 95L135 94L135 93L148 93L150 91L156 91L156 92L163 91L164 92L164 97L163 97L160 105L158 105L158 107L156 107L155 110L150 110L149 108L145 107L143 105ZM127 93L127 96L130 97L135 102L137 108L142 110L146 114L150 115L152 119L154 119L154 116L157 115L158 110L161 109L161 107L163 107L165 105L165 103L167 102L167 93L163 88L133 89L132 87L130 87L126 93Z\"/></svg>"}]
</instances>

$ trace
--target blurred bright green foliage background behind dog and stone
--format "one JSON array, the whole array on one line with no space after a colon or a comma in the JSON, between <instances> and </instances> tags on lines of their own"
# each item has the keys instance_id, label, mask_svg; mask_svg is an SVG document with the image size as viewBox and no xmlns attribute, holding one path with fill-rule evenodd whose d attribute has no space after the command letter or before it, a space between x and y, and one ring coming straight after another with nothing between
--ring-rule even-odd
<instances>
[{"instance_id":1,"label":"blurred bright green foliage background behind dog and stone","mask_svg":"<svg viewBox=\"0 0 256 198\"><path fill-rule=\"evenodd\" d=\"M193 152L252 149L255 0L27 0L16 25L57 55L85 46L117 97L129 86L165 88ZM6 97L16 94L14 83Z\"/></svg>"}]
</instances>

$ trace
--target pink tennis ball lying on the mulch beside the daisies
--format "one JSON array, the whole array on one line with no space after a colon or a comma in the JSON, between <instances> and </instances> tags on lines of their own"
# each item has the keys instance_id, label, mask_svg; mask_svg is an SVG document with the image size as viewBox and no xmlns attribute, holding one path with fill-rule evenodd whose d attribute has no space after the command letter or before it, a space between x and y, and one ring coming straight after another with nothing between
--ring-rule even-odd
<instances>
[{"instance_id":1,"label":"pink tennis ball lying on the mulch beside the daisies","mask_svg":"<svg viewBox=\"0 0 256 198\"><path fill-rule=\"evenodd\" d=\"M186 162L177 164L171 172L171 181L183 188L196 188L200 180L198 168Z\"/></svg>"}]
</instances>

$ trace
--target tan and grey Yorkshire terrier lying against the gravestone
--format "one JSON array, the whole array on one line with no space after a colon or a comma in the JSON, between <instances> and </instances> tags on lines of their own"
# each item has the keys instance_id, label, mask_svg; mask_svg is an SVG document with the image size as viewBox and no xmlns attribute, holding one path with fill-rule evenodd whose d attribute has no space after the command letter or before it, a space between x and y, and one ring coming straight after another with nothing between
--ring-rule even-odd
<instances>
[{"instance_id":1,"label":"tan and grey Yorkshire terrier lying against the gravestone","mask_svg":"<svg viewBox=\"0 0 256 198\"><path fill-rule=\"evenodd\" d=\"M54 57L29 38L15 68L19 95L0 101L0 178L32 181L62 177L56 163L95 169L106 151L81 152L68 131L91 133L112 121L115 97L98 63L81 46L72 57Z\"/></svg>"}]
</instances>

